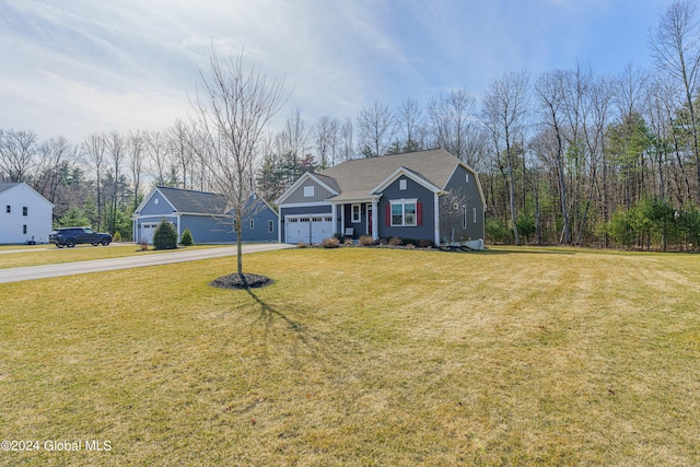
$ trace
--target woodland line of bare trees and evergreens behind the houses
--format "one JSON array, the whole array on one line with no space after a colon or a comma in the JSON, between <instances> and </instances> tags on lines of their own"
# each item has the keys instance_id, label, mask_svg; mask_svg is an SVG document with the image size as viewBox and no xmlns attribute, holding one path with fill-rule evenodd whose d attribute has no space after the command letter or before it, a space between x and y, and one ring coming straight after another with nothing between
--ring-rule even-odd
<instances>
[{"instance_id":1,"label":"woodland line of bare trees and evergreens behind the houses","mask_svg":"<svg viewBox=\"0 0 700 467\"><path fill-rule=\"evenodd\" d=\"M479 98L451 90L425 103L381 102L354 118L307 122L293 109L262 135L246 185L268 200L304 172L357 157L444 148L480 174L487 240L695 249L700 243L698 72L693 3L672 4L650 31L654 68L615 75L587 66L509 72ZM147 186L213 190L220 170L202 119L161 131L93 133L80 143L0 130L0 178L54 202L57 224L131 236ZM243 173L243 172L241 172Z\"/></svg>"}]
</instances>

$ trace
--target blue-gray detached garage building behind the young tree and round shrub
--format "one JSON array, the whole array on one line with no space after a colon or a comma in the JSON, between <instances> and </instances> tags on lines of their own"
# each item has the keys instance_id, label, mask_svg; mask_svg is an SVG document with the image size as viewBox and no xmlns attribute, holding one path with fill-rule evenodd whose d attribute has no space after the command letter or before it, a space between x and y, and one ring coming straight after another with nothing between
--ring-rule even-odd
<instances>
[{"instance_id":1,"label":"blue-gray detached garage building behind the young tree and round shrub","mask_svg":"<svg viewBox=\"0 0 700 467\"><path fill-rule=\"evenodd\" d=\"M277 213L261 198L252 195L250 212L242 225L244 242L277 242ZM163 186L154 187L133 212L135 241L152 243L155 227L166 219L175 225L180 238L185 229L195 243L231 243L236 241L233 217L226 198L213 192Z\"/></svg>"}]
</instances>

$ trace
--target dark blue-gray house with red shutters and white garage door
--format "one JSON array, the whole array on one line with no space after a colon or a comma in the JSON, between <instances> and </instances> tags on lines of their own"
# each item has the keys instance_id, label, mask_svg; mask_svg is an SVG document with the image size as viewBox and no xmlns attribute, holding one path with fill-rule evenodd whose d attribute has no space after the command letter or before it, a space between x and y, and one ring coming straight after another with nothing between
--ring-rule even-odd
<instances>
[{"instance_id":1,"label":"dark blue-gray house with red shutters and white garage door","mask_svg":"<svg viewBox=\"0 0 700 467\"><path fill-rule=\"evenodd\" d=\"M477 173L445 150L343 162L302 175L278 199L280 242L404 237L483 246Z\"/></svg>"}]
</instances>

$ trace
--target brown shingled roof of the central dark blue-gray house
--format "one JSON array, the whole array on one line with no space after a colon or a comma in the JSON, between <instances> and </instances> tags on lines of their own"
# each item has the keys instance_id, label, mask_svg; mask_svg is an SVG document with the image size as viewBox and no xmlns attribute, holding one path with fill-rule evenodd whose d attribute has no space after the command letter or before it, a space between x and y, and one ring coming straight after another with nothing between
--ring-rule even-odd
<instances>
[{"instance_id":1,"label":"brown shingled roof of the central dark blue-gray house","mask_svg":"<svg viewBox=\"0 0 700 467\"><path fill-rule=\"evenodd\" d=\"M401 170L412 173L428 184L444 189L455 168L463 165L457 157L444 149L383 155L381 157L355 159L327 168L317 176L330 177L340 188L335 200L368 197ZM475 173L476 174L476 173Z\"/></svg>"}]
</instances>

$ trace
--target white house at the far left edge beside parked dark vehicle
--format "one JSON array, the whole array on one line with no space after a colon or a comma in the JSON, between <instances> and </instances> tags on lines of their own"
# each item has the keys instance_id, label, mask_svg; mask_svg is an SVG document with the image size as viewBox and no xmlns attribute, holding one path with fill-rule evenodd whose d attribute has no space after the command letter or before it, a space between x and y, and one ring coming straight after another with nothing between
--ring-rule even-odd
<instances>
[{"instance_id":1,"label":"white house at the far left edge beside parked dark vehicle","mask_svg":"<svg viewBox=\"0 0 700 467\"><path fill-rule=\"evenodd\" d=\"M0 243L47 243L54 205L25 183L0 183Z\"/></svg>"}]
</instances>

